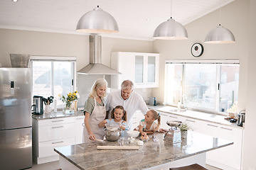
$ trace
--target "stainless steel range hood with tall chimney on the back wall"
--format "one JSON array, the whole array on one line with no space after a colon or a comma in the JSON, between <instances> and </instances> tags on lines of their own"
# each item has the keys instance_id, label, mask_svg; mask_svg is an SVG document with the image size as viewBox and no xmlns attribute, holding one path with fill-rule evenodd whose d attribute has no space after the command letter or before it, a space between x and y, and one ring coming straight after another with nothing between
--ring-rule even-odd
<instances>
[{"instance_id":1,"label":"stainless steel range hood with tall chimney on the back wall","mask_svg":"<svg viewBox=\"0 0 256 170\"><path fill-rule=\"evenodd\" d=\"M101 44L100 35L90 35L90 64L80 69L77 74L121 74L102 64Z\"/></svg>"}]
</instances>

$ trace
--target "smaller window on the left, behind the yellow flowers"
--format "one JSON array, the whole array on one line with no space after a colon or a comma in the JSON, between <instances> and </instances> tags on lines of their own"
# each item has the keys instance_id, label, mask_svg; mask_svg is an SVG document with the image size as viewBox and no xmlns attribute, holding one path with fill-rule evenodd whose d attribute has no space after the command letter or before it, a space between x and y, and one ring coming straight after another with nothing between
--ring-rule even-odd
<instances>
[{"instance_id":1,"label":"smaller window on the left, behind the yellow flowers","mask_svg":"<svg viewBox=\"0 0 256 170\"><path fill-rule=\"evenodd\" d=\"M75 91L75 57L31 56L33 96L58 99L59 94ZM62 106L62 102L58 105Z\"/></svg>"}]
</instances>

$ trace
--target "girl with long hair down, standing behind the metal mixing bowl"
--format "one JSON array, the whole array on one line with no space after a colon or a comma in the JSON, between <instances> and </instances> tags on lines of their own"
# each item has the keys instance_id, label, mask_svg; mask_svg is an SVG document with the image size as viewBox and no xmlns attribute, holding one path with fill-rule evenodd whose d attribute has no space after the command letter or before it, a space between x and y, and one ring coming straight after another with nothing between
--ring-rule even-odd
<instances>
[{"instance_id":1,"label":"girl with long hair down, standing behind the metal mixing bowl","mask_svg":"<svg viewBox=\"0 0 256 170\"><path fill-rule=\"evenodd\" d=\"M122 130L127 128L127 112L124 111L123 106L116 106L111 112L111 119L102 120L99 124L100 128L105 127L107 123L119 123Z\"/></svg>"}]
</instances>

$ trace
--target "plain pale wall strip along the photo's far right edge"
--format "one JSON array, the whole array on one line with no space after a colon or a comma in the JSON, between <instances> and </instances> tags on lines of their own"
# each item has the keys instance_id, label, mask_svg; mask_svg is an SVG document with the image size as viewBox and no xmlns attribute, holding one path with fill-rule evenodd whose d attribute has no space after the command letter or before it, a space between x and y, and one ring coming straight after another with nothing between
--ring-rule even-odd
<instances>
[{"instance_id":1,"label":"plain pale wall strip along the photo's far right edge","mask_svg":"<svg viewBox=\"0 0 256 170\"><path fill-rule=\"evenodd\" d=\"M242 168L245 170L256 169L256 113L255 113L255 96L256 96L256 1L250 0L250 25L249 25L249 57L247 69L247 98L246 98L246 117L245 133L243 143Z\"/></svg>"}]
</instances>

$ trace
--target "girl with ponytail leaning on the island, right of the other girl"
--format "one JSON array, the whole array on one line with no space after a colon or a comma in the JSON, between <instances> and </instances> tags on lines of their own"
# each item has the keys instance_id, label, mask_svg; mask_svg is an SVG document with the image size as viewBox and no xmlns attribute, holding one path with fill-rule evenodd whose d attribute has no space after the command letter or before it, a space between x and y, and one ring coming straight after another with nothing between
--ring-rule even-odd
<instances>
[{"instance_id":1,"label":"girl with ponytail leaning on the island, right of the other girl","mask_svg":"<svg viewBox=\"0 0 256 170\"><path fill-rule=\"evenodd\" d=\"M157 120L157 123L155 120ZM159 131L160 122L159 113L154 109L147 111L145 118L139 121L139 132L142 134L142 138L145 138L146 134L153 134L155 131Z\"/></svg>"}]
</instances>

